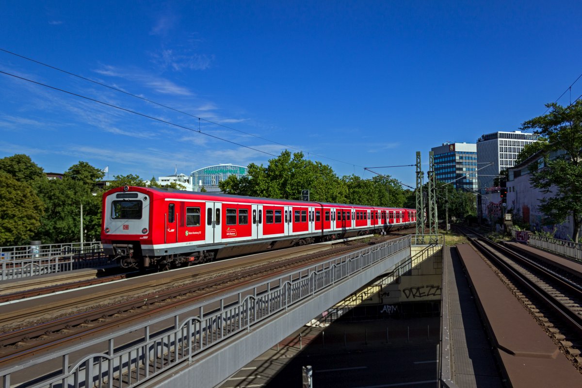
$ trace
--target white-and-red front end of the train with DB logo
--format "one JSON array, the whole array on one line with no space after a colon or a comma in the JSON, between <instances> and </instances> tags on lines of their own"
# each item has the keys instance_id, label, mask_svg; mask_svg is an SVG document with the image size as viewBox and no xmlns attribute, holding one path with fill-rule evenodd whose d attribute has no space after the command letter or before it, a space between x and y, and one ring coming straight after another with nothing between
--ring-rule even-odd
<instances>
[{"instance_id":1,"label":"white-and-red front end of the train with DB logo","mask_svg":"<svg viewBox=\"0 0 582 388\"><path fill-rule=\"evenodd\" d=\"M118 187L103 194L101 244L122 267L148 266L143 245L152 244L151 192L143 187Z\"/></svg>"}]
</instances>

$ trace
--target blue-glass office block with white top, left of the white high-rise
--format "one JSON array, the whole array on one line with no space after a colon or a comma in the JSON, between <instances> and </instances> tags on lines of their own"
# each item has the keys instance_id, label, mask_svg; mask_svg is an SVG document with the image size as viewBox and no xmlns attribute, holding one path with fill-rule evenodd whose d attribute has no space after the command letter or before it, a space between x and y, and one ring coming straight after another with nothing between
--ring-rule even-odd
<instances>
[{"instance_id":1,"label":"blue-glass office block with white top, left of the white high-rise","mask_svg":"<svg viewBox=\"0 0 582 388\"><path fill-rule=\"evenodd\" d=\"M455 188L477 190L477 148L474 143L443 143L431 148L435 177Z\"/></svg>"}]
</instances>

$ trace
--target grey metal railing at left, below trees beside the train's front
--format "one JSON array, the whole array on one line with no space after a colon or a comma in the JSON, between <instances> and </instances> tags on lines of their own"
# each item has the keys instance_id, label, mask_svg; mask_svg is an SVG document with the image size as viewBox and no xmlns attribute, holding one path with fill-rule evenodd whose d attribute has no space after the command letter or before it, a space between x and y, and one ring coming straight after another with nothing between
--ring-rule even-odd
<instances>
[{"instance_id":1,"label":"grey metal railing at left, below trees beside the train's front","mask_svg":"<svg viewBox=\"0 0 582 388\"><path fill-rule=\"evenodd\" d=\"M100 241L0 247L0 280L108 264Z\"/></svg>"}]
</instances>

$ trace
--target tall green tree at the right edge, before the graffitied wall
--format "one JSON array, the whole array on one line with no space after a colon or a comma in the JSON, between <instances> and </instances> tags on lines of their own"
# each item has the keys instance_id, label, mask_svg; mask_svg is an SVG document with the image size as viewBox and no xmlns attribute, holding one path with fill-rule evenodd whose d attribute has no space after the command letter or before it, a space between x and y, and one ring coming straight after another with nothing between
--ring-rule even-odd
<instances>
[{"instance_id":1,"label":"tall green tree at the right edge, before the graffitied wall","mask_svg":"<svg viewBox=\"0 0 582 388\"><path fill-rule=\"evenodd\" d=\"M521 125L521 130L533 129L548 139L543 148L545 168L534 172L530 183L548 194L538 207L546 216L544 223L562 223L571 216L573 241L578 241L582 225L582 101L566 108L555 103L546 106L547 114ZM548 154L552 151L565 154L551 160Z\"/></svg>"}]
</instances>

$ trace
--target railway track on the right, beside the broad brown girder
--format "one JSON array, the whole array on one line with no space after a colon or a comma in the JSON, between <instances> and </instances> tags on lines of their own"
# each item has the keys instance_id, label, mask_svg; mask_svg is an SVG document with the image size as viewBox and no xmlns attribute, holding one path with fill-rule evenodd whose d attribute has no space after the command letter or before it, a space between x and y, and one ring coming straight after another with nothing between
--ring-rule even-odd
<instances>
[{"instance_id":1,"label":"railway track on the right, beside the broad brown girder","mask_svg":"<svg viewBox=\"0 0 582 388\"><path fill-rule=\"evenodd\" d=\"M582 372L582 284L556 270L463 229L487 264Z\"/></svg>"}]
</instances>

